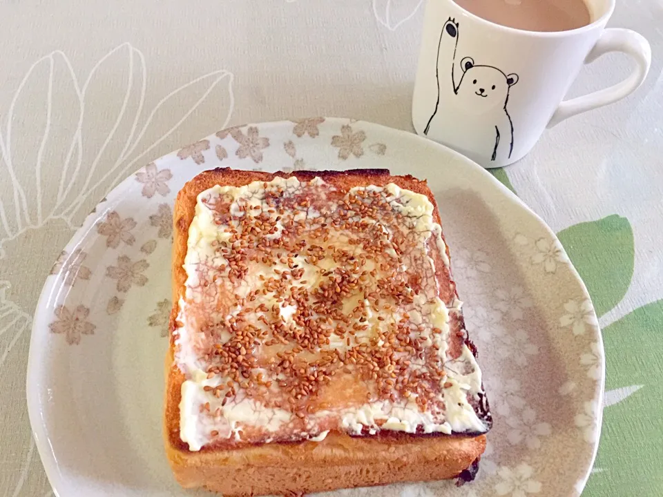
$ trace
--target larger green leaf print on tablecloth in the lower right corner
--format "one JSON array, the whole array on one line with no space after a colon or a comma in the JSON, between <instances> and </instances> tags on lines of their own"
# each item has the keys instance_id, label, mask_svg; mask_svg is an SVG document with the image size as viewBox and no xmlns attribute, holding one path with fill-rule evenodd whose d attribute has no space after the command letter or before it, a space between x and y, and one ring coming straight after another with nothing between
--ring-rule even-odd
<instances>
[{"instance_id":1,"label":"larger green leaf print on tablecloth in the lower right corner","mask_svg":"<svg viewBox=\"0 0 663 497\"><path fill-rule=\"evenodd\" d=\"M595 471L583 496L654 497L663 489L663 300L603 330L606 402Z\"/></svg>"}]
</instances>

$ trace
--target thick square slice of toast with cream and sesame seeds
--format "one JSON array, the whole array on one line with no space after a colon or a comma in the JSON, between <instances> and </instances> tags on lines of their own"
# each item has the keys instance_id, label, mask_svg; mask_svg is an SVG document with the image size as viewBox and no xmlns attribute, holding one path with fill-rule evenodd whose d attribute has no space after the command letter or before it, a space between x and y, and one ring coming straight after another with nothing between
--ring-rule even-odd
<instances>
[{"instance_id":1,"label":"thick square slice of toast with cream and sesame seeds","mask_svg":"<svg viewBox=\"0 0 663 497\"><path fill-rule=\"evenodd\" d=\"M425 182L215 169L173 222L165 437L182 486L472 478L492 420Z\"/></svg>"}]
</instances>

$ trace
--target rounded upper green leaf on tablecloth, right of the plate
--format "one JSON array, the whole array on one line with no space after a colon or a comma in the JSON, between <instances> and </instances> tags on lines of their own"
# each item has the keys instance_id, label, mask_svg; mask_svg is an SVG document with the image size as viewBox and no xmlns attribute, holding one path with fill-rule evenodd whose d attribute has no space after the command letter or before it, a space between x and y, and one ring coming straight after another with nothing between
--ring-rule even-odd
<instances>
[{"instance_id":1,"label":"rounded upper green leaf on tablecloth, right of the plate","mask_svg":"<svg viewBox=\"0 0 663 497\"><path fill-rule=\"evenodd\" d=\"M624 217L575 224L557 233L600 317L626 295L635 260L633 230Z\"/></svg>"}]
</instances>

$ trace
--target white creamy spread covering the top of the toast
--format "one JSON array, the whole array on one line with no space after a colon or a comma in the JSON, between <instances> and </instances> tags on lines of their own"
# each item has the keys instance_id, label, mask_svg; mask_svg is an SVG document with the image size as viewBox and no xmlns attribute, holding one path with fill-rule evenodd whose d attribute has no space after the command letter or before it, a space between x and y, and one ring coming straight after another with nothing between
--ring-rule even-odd
<instances>
[{"instance_id":1,"label":"white creamy spread covering the top of the toast","mask_svg":"<svg viewBox=\"0 0 663 497\"><path fill-rule=\"evenodd\" d=\"M365 205L369 207L373 204L367 199L382 199L388 207L379 215L370 209L361 211L361 208L354 207L358 203L349 202L357 198L364 199ZM290 199L291 202L284 206L280 199ZM301 205L300 201L303 202ZM338 212L343 210L343 222L354 225L341 223L331 226ZM400 215L400 220L384 222L381 216L388 217L392 213ZM487 431L485 422L470 405L470 399L478 403L483 393L481 371L474 355L464 343L460 355L456 358L449 355L448 344L452 332L450 313L460 315L461 302L455 295L446 304L439 298L443 293L434 278L436 263L433 255L436 254L445 266L448 266L448 258L441 226L434 222L432 213L433 206L425 195L407 191L395 184L352 188L343 195L320 178L306 183L295 177L276 177L271 182L253 182L239 187L217 185L200 193L195 217L189 228L188 250L184 260L186 294L180 300L177 318L182 326L177 330L175 340L175 361L186 377L180 402L180 437L189 445L189 449L198 451L211 442L224 440L258 442L289 439L319 442L325 439L330 430L347 431L353 435L380 430L407 433ZM304 223L296 224L300 221ZM259 240L277 243L285 234L289 237L294 235L294 240L298 240L298 237L305 239L307 248L302 247L298 257L290 257L289 260L285 257L287 250L279 248L271 249L271 257L259 254L248 262L233 259L238 251L242 254L251 253L250 240L256 239L251 239L250 226L254 224L258 231L262 230L260 235L256 235ZM321 231L309 233L305 231L308 225L318 226ZM359 225L361 228L357 228ZM269 226L269 232L265 231L265 226ZM300 235L295 233L297 226L303 226ZM401 229L399 226L403 226L402 233L405 236L410 236L408 244L390 244L390 240L401 235L401 232L396 233ZM376 243L383 242L383 247L386 247L384 253L364 257L362 254L365 248L362 248L361 240L356 240L356 229L370 233ZM244 242L238 242L238 239L244 232L248 233L249 242L242 246ZM404 246L408 247L408 253L399 254L398 251L403 252L401 249ZM359 261L363 266L357 269ZM410 300L398 303L391 302L388 295L387 298L383 295L367 296L369 291L366 289L373 280L381 278L383 284L388 285L396 281L390 277L390 271L409 275L412 271L407 271L412 269L412 264L416 264L414 273L424 275L421 288L415 292L408 283L401 285L402 290L398 290L401 293L394 293L413 295ZM390 269L385 269L386 266ZM339 268L349 270L341 271ZM360 271L373 272L373 275L360 277ZM233 276L237 274L241 277ZM334 281L337 283L334 284ZM403 277L398 281L405 282L407 279ZM281 283L280 288L286 288L289 293L282 290L267 291L268 284L278 286ZM328 309L311 309L316 309L316 298L320 300L320 295L327 288L325 285L329 284L331 295L343 292L343 301L334 307L333 312L350 315L351 319L337 322L327 317L328 329L324 331L320 323L325 324L325 318L320 318L319 313L327 312ZM346 286L339 290L339 285ZM261 292L263 287L265 291ZM314 289L320 289L318 297L314 296ZM299 291L310 293L305 294L305 300L295 302L300 295ZM289 298L290 295L294 297ZM243 304L238 299L243 299ZM305 309L300 309L300 306L305 306ZM247 309L251 311L247 312ZM352 318L353 315L355 318ZM358 315L362 316L361 322L356 320ZM307 342L302 338L305 335L301 331L302 320L314 319L317 321L311 336L317 337L320 342L316 347L307 348ZM235 347L232 342L238 332L233 332L230 325L237 327L240 322L242 326L250 325L243 329L258 335L262 333L253 342L242 338L244 342L241 343L247 347L240 345L240 342ZM272 324L268 326L268 322ZM282 332L288 339L275 337L271 333L273 322L281 323L277 325L278 329L290 330ZM363 328L353 329L352 333L348 331L338 335L333 331L338 327L350 329L352 324L357 323ZM407 327L406 333L403 333L403 327ZM397 333L398 329L401 331ZM414 330L412 340L419 343L416 346L419 357L413 356L408 361L411 364L407 364L407 369L403 370L404 361L408 358L403 351L398 352L394 336L398 335L401 346L403 340L407 341L407 345L411 343L410 329ZM389 335L385 330L392 330L393 333ZM378 337L381 338L377 340ZM270 340L273 340L271 344ZM302 340L303 346L300 346ZM386 340L391 342L387 343ZM414 390L408 390L407 397L399 393L390 398L389 392L379 393L374 389L370 369L362 370L363 374L368 375L368 380L360 378L357 369L360 366L355 365L354 358L358 357L357 364L361 364L362 353L372 348L382 350L385 347L396 347L394 357L398 356L400 360L396 368L409 371L407 375L432 374L430 361L441 364L445 376L439 381L435 380L437 393L429 403L423 404L430 406L430 409L421 409L418 403L421 399L417 398L418 394ZM337 369L329 370L327 367L325 370L322 366L310 366L318 364L312 361L318 360L323 350L329 353L329 357L334 358L336 354L343 358L340 364L334 366ZM432 356L425 355L426 351L432 353ZM284 352L285 356L277 355ZM355 352L360 355L353 355ZM241 357L238 359L240 366L236 366L234 360L230 361L233 365L228 366L228 354ZM247 363L241 361L247 360L249 356L253 357L255 364L247 366ZM285 360L291 358L291 362L285 362L285 369L282 369L278 362L284 357ZM294 362L296 366L291 367ZM390 367L393 368L394 364ZM245 376L236 373L233 382L233 370L229 370L229 367L240 367L238 371L241 370ZM299 368L301 370L297 371ZM317 403L311 400L309 407L306 404L307 396L297 400L289 398L290 404L285 400L278 404L273 402L273 399L288 398L290 394L285 393L286 390L301 388L301 385L293 383L292 375L298 378L302 376L305 381L311 382L307 385L318 388L317 380L312 378L318 374L318 370L326 371L328 378L320 382L321 400L316 400ZM335 376L330 371L338 374ZM387 375L384 377L387 384L389 381L398 384L399 379L394 378L395 374L391 377L384 374ZM340 378L351 382L350 387L338 387L337 390L336 384L342 381ZM380 381L384 392L385 383ZM230 384L233 384L232 388ZM353 396L345 399L344 392L348 388ZM409 388L406 385L405 389ZM357 400L354 390L363 392L361 401ZM314 398L316 396L311 394L311 399ZM296 412L296 409L300 411Z\"/></svg>"}]
</instances>

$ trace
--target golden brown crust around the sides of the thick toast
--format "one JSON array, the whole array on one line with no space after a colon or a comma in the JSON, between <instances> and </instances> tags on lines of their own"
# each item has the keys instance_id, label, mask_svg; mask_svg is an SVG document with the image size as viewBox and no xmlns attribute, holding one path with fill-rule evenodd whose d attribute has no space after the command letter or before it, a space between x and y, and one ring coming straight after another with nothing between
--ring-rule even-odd
<instances>
[{"instance_id":1,"label":"golden brown crust around the sides of the thick toast","mask_svg":"<svg viewBox=\"0 0 663 497\"><path fill-rule=\"evenodd\" d=\"M180 439L180 389L184 375L174 362L173 333L177 328L177 302L183 296L189 226L195 214L198 193L216 184L242 186L253 181L271 181L276 176L295 176L301 181L321 177L336 188L385 186L426 195L434 206L433 217L440 223L435 199L425 181L412 176L392 176L387 170L297 171L263 173L217 168L205 171L178 193L173 215L173 311L171 342L166 357L166 402L164 430L166 454L175 477L184 487L204 486L226 495L260 495L323 491L343 487L381 485L406 480L453 478L477 460L486 447L486 436L422 436L406 433L378 433L355 438L329 433L322 442L270 443L236 449L189 451ZM447 249L447 255L448 249ZM455 296L447 266L436 261L440 298ZM451 282L451 284L449 284ZM462 322L460 323L462 328ZM459 347L465 337L459 337Z\"/></svg>"}]
</instances>

